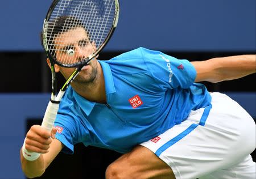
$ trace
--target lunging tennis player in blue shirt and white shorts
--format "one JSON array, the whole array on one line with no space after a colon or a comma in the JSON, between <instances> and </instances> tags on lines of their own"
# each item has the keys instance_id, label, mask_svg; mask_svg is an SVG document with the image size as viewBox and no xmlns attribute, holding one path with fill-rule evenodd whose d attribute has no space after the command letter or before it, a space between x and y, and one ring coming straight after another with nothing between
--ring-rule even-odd
<instances>
[{"instance_id":1,"label":"lunging tennis player in blue shirt and white shorts","mask_svg":"<svg viewBox=\"0 0 256 179\"><path fill-rule=\"evenodd\" d=\"M79 60L85 48L76 42ZM255 73L255 64L255 55L189 62L145 48L94 58L65 92L51 133L39 125L28 131L24 147L41 155L28 161L21 148L23 172L41 176L60 151L72 154L83 143L123 153L106 178L255 178L253 118L196 83L242 78Z\"/></svg>"}]
</instances>

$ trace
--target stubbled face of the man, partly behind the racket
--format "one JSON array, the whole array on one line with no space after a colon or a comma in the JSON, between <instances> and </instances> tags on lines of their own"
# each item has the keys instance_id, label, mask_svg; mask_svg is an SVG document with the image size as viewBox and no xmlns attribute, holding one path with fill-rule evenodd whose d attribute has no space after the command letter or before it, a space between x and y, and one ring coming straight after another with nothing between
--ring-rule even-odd
<instances>
[{"instance_id":1,"label":"stubbled face of the man, partly behind the racket","mask_svg":"<svg viewBox=\"0 0 256 179\"><path fill-rule=\"evenodd\" d=\"M90 42L84 28L79 27L71 31L61 33L55 38L55 51L57 61L71 64L87 58L96 50L94 42ZM74 68L60 67L60 72L67 79L73 73ZM97 61L92 59L89 65L84 66L74 82L89 83L96 78Z\"/></svg>"}]
</instances>

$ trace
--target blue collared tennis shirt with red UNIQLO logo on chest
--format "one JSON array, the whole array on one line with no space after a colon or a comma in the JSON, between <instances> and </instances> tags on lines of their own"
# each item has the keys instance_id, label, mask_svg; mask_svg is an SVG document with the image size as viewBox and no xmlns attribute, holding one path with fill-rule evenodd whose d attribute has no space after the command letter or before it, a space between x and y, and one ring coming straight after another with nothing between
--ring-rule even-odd
<instances>
[{"instance_id":1,"label":"blue collared tennis shirt with red UNIQLO logo on chest","mask_svg":"<svg viewBox=\"0 0 256 179\"><path fill-rule=\"evenodd\" d=\"M60 103L56 138L69 154L79 142L129 152L210 104L209 92L193 83L196 70L185 59L138 48L99 62L108 104L88 101L72 87Z\"/></svg>"}]
</instances>

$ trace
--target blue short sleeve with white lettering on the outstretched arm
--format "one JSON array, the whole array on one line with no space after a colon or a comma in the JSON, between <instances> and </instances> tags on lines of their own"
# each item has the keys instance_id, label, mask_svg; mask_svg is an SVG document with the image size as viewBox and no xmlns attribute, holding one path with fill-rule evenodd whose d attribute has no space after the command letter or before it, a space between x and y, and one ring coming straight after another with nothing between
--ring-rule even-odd
<instances>
[{"instance_id":1,"label":"blue short sleeve with white lettering on the outstretched arm","mask_svg":"<svg viewBox=\"0 0 256 179\"><path fill-rule=\"evenodd\" d=\"M164 90L189 88L196 78L196 70L186 59L177 59L159 51L141 48L142 56L152 76Z\"/></svg>"}]
</instances>

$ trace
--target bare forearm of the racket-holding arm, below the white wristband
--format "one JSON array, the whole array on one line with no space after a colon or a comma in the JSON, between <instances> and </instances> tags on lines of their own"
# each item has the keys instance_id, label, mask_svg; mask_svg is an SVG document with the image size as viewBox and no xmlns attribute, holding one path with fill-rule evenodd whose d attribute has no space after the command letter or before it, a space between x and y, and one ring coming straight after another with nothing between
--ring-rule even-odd
<instances>
[{"instance_id":1,"label":"bare forearm of the racket-holding arm, below the white wristband","mask_svg":"<svg viewBox=\"0 0 256 179\"><path fill-rule=\"evenodd\" d=\"M40 155L39 158L34 161L28 161L22 155L22 148L20 149L20 163L24 174L28 178L42 176L46 170L43 155Z\"/></svg>"}]
</instances>

